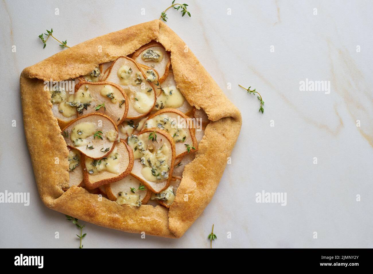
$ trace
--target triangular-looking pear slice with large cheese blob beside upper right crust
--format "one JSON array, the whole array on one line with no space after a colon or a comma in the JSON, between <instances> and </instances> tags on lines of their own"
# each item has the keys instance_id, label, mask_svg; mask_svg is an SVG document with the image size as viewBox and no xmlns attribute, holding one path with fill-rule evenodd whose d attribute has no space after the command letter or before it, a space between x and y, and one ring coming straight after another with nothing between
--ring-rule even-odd
<instances>
[{"instance_id":1,"label":"triangular-looking pear slice with large cheese blob beside upper right crust","mask_svg":"<svg viewBox=\"0 0 373 274\"><path fill-rule=\"evenodd\" d=\"M160 86L162 86L162 89ZM171 70L167 79L160 86L157 87L157 102L153 111L163 108L177 108L188 116L192 114L193 107L185 100L184 95L176 87L175 78Z\"/></svg>"}]
</instances>

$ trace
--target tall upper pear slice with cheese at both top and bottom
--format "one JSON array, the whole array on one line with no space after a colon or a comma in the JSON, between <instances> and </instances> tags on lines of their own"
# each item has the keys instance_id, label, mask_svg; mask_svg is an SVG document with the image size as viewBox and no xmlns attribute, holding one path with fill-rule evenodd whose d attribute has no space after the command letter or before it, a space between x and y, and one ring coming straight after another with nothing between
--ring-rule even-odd
<instances>
[{"instance_id":1,"label":"tall upper pear slice with cheese at both top and bottom","mask_svg":"<svg viewBox=\"0 0 373 274\"><path fill-rule=\"evenodd\" d=\"M128 98L127 119L144 117L156 103L156 92L134 60L118 57L109 68L106 82L121 86Z\"/></svg>"}]
</instances>

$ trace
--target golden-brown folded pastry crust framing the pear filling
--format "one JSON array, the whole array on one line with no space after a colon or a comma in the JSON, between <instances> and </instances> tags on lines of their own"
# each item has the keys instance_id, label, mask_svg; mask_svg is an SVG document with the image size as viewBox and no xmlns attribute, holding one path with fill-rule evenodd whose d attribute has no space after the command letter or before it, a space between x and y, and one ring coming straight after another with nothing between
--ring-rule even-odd
<instances>
[{"instance_id":1,"label":"golden-brown folded pastry crust framing the pear filling","mask_svg":"<svg viewBox=\"0 0 373 274\"><path fill-rule=\"evenodd\" d=\"M64 192L62 188L69 186L68 149L51 111L50 93L43 89L44 81L86 75L98 64L127 56L151 40L171 52L177 87L189 104L202 108L213 121L206 127L195 159L184 169L175 201L169 210L160 205L134 208L76 186ZM197 219L219 184L242 120L239 110L191 50L184 52L184 46L165 23L154 20L82 42L22 71L26 141L38 190L47 207L100 226L162 237L181 237Z\"/></svg>"}]
</instances>

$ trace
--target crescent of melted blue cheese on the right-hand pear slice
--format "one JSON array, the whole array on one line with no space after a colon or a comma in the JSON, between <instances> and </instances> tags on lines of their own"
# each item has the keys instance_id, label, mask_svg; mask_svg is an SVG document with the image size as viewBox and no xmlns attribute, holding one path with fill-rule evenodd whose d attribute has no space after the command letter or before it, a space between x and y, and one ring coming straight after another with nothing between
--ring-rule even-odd
<instances>
[{"instance_id":1,"label":"crescent of melted blue cheese on the right-hand pear slice","mask_svg":"<svg viewBox=\"0 0 373 274\"><path fill-rule=\"evenodd\" d=\"M186 132L177 124L177 121L174 120L175 119L172 119L166 114L160 114L147 120L145 128L157 127L159 129L164 129L171 135L175 143L184 142L186 139Z\"/></svg>"}]
</instances>

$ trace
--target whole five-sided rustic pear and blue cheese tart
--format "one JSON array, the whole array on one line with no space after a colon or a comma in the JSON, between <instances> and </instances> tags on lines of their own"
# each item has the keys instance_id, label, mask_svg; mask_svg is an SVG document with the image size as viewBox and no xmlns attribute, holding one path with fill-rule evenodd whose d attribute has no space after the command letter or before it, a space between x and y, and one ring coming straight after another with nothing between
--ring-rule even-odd
<instances>
[{"instance_id":1,"label":"whole five-sided rustic pear and blue cheese tart","mask_svg":"<svg viewBox=\"0 0 373 274\"><path fill-rule=\"evenodd\" d=\"M98 46L102 51L97 51ZM23 70L25 135L38 190L47 207L126 232L162 237L181 237L186 232L219 184L241 128L241 115L193 53L184 48L185 43L166 24L154 20L83 42ZM116 91L114 97L127 95L123 96L127 114L125 109L119 110L118 102L111 101L112 92L103 92L106 108L96 110L98 102L88 105L86 94L79 98L80 92L45 89L45 81L50 79L85 81L78 91L87 85L96 98L104 96L101 89L94 88L110 85ZM116 85L124 93L119 94ZM108 108L110 104L118 107ZM172 108L165 111L177 114L175 117L203 120L202 128L182 127L185 140L190 138L184 144L189 151L186 146L184 152L182 146L176 148L178 139L162 127L144 128L164 108ZM137 147L140 140L145 145ZM126 144L134 154L129 174L131 149L125 150ZM127 152L122 158L126 162L110 173L104 165L111 161L109 157L115 161L118 151ZM103 170L90 174L90 166L100 160L95 167ZM88 179L83 179L84 174Z\"/></svg>"}]
</instances>

